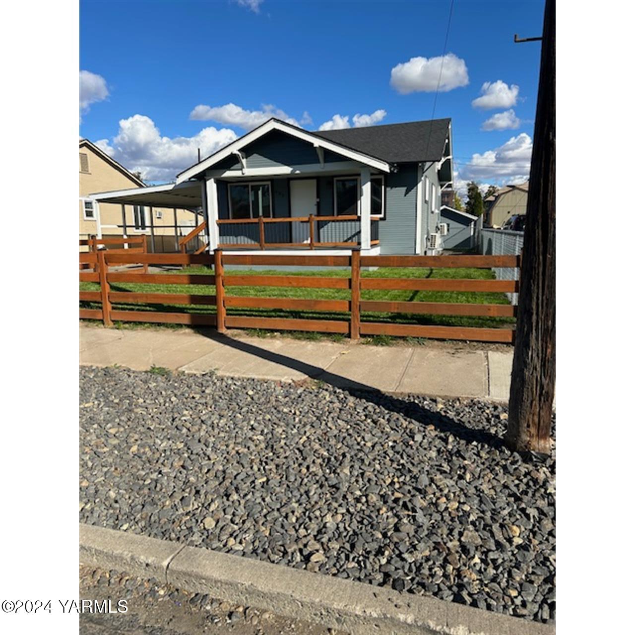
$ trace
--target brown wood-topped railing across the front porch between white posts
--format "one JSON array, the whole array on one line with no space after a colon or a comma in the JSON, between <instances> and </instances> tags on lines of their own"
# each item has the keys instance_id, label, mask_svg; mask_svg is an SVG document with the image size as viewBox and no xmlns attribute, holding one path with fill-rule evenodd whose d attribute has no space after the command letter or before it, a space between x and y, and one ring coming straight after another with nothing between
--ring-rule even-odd
<instances>
[{"instance_id":1,"label":"brown wood-topped railing across the front porch between white posts","mask_svg":"<svg viewBox=\"0 0 635 635\"><path fill-rule=\"evenodd\" d=\"M378 219L371 218L371 245L379 244ZM358 216L298 216L217 220L220 249L354 247L361 243Z\"/></svg>"}]
</instances>

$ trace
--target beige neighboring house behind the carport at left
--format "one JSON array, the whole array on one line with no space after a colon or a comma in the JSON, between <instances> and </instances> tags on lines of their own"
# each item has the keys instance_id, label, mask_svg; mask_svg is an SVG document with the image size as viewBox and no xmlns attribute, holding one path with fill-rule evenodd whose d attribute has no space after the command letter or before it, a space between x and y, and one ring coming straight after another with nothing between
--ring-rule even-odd
<instances>
[{"instance_id":1,"label":"beige neighboring house behind the carport at left","mask_svg":"<svg viewBox=\"0 0 635 635\"><path fill-rule=\"evenodd\" d=\"M197 201L192 201L191 209L184 209L100 203L91 196L142 187L146 186L141 178L97 145L88 139L79 140L79 239L93 234L98 238L145 236L148 251L179 251L178 239L203 222ZM192 243L188 251L194 248Z\"/></svg>"}]
</instances>

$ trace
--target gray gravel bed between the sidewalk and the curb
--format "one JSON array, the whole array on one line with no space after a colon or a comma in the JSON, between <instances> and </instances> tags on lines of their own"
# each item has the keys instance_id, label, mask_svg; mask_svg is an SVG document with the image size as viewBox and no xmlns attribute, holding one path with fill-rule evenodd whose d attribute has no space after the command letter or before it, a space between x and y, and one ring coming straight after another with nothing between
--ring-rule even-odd
<instances>
[{"instance_id":1,"label":"gray gravel bed between the sidewalk and the curb","mask_svg":"<svg viewBox=\"0 0 635 635\"><path fill-rule=\"evenodd\" d=\"M86 367L80 401L84 523L555 619L556 462L505 406Z\"/></svg>"}]
</instances>

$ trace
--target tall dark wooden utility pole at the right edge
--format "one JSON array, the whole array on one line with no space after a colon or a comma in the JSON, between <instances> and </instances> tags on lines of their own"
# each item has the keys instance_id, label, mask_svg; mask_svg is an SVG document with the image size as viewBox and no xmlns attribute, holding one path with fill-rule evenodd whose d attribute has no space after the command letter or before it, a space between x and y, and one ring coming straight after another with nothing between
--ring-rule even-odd
<instances>
[{"instance_id":1,"label":"tall dark wooden utility pole at the right edge","mask_svg":"<svg viewBox=\"0 0 635 635\"><path fill-rule=\"evenodd\" d=\"M505 442L551 450L556 386L556 1L546 0Z\"/></svg>"}]
</instances>

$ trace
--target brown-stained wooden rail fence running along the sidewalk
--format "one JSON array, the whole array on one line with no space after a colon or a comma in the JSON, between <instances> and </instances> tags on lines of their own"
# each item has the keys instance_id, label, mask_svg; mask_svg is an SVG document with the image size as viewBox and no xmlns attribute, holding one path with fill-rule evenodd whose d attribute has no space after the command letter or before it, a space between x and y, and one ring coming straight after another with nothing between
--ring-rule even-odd
<instances>
[{"instance_id":1,"label":"brown-stained wooden rail fence running along the sidewalk","mask_svg":"<svg viewBox=\"0 0 635 635\"><path fill-rule=\"evenodd\" d=\"M129 251L129 250L126 250ZM225 254L216 250L213 255L201 254L135 254L124 250L98 250L80 253L79 262L88 264L93 272L79 273L79 280L100 285L99 291L80 291L79 300L100 303L101 309L81 308L81 319L99 319L111 325L113 321L154 322L216 326L224 332L227 328L257 328L268 330L320 331L341 333L358 339L360 335L394 335L401 337L441 338L478 342L514 341L513 328L482 328L472 326L438 326L422 324L398 324L395 322L364 321L368 312L414 315L451 315L514 318L516 307L509 304L464 304L454 302L418 302L413 300L363 300L362 291L373 290L435 290L470 291L476 293L514 293L518 280L363 277L362 267L471 267L491 269L515 268L520 265L519 256L361 256L358 250L351 255L244 255ZM109 271L112 265L206 265L213 267L213 274L149 274L135 271ZM339 267L349 269L347 277L244 275L239 271L225 273L225 265ZM140 293L138 291L112 291L111 283L145 284L197 284L210 287L210 293ZM349 290L350 298L343 300L246 297L227 295L225 288L240 286L328 288ZM213 289L212 289L213 287ZM122 311L112 304L194 305L215 307L215 313L184 313L159 311ZM272 318L227 314L227 309L281 309L288 311L320 311L335 314L333 319Z\"/></svg>"}]
</instances>

